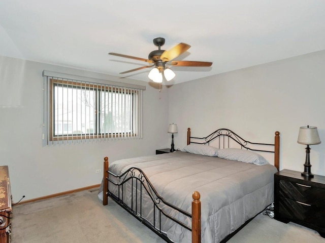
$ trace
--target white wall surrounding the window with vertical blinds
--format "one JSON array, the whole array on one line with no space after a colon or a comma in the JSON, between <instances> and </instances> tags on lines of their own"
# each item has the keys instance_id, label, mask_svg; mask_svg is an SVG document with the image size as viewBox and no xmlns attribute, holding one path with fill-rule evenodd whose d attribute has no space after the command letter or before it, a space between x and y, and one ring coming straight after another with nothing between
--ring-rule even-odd
<instances>
[{"instance_id":1,"label":"white wall surrounding the window with vertical blinds","mask_svg":"<svg viewBox=\"0 0 325 243\"><path fill-rule=\"evenodd\" d=\"M143 139L42 146L43 70L146 86ZM0 56L0 165L8 165L13 201L100 184L110 161L169 147L168 91L147 82ZM103 170L102 170L103 171Z\"/></svg>"}]
</instances>

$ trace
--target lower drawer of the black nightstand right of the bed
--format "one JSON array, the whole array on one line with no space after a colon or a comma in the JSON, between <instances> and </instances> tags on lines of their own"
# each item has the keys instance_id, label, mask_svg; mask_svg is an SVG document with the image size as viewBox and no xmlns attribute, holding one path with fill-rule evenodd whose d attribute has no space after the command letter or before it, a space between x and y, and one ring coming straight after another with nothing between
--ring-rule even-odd
<instances>
[{"instance_id":1,"label":"lower drawer of the black nightstand right of the bed","mask_svg":"<svg viewBox=\"0 0 325 243\"><path fill-rule=\"evenodd\" d=\"M305 204L289 198L279 198L279 214L291 220L298 220L317 227L325 227L325 209L323 206Z\"/></svg>"}]
</instances>

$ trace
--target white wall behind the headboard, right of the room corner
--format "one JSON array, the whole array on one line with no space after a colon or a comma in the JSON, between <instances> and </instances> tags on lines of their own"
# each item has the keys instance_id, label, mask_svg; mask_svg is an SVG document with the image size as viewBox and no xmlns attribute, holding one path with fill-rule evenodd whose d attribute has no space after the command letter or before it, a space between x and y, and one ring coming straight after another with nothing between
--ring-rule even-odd
<instances>
[{"instance_id":1,"label":"white wall behind the headboard, right of the room corner","mask_svg":"<svg viewBox=\"0 0 325 243\"><path fill-rule=\"evenodd\" d=\"M279 131L280 169L303 171L299 127L316 126L311 171L325 175L325 51L222 73L173 86L169 118L178 125L176 147L193 136L228 128L256 142L274 142Z\"/></svg>"}]
</instances>

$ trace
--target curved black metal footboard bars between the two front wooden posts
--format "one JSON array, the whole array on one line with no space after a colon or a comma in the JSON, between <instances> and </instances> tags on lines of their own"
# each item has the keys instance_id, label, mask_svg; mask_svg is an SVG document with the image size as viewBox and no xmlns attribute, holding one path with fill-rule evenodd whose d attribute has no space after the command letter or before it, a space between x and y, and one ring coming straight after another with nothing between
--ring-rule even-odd
<instances>
[{"instance_id":1,"label":"curved black metal footboard bars between the two front wooden posts","mask_svg":"<svg viewBox=\"0 0 325 243\"><path fill-rule=\"evenodd\" d=\"M175 216L177 215L179 218L179 215L181 214L181 218L191 218L192 215L168 203L168 201L161 197L141 169L132 167L121 175L115 175L110 171L107 172L109 175L108 178L106 178L109 185L107 195L115 200L116 203L122 208L136 217L139 221L145 224L148 228L153 230L160 237L164 238L167 242L173 241L171 241L167 237L166 233L161 230L161 225L163 224L161 220L172 220L176 224L191 231L191 227L175 218ZM111 183L113 185L111 185ZM114 186L117 187L115 188L115 193L112 192L114 191L112 190L113 188L110 189L110 187ZM131 195L129 195L131 198L124 198L126 186L131 186ZM151 222L143 215L143 196L150 197L152 201L153 220ZM165 218L162 219L162 215L165 216Z\"/></svg>"}]
</instances>

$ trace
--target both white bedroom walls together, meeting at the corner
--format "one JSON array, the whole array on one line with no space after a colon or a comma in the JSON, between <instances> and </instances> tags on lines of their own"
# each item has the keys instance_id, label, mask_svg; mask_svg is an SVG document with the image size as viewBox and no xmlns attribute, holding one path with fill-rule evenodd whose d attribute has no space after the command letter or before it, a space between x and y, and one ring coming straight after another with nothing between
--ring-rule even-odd
<instances>
[{"instance_id":1,"label":"both white bedroom walls together, meeting at the corner","mask_svg":"<svg viewBox=\"0 0 325 243\"><path fill-rule=\"evenodd\" d=\"M325 175L325 51L174 85L161 93L146 82L144 138L42 146L42 71L121 80L117 77L0 56L0 165L8 165L13 201L99 184L103 157L110 161L154 154L170 147L169 123L178 126L175 148L186 131L208 134L234 130L250 141L270 142L281 133L280 167L303 171L305 146L299 127L316 126L319 145L311 146L312 172Z\"/></svg>"}]
</instances>

